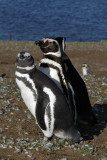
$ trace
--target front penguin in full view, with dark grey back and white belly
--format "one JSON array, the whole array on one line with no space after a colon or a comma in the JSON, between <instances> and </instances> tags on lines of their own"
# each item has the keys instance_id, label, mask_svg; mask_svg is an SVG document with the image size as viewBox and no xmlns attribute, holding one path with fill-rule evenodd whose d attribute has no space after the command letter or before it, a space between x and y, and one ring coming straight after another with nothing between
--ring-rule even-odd
<instances>
[{"instance_id":1,"label":"front penguin in full view, with dark grey back and white belly","mask_svg":"<svg viewBox=\"0 0 107 160\"><path fill-rule=\"evenodd\" d=\"M35 117L45 139L55 134L59 138L80 141L68 103L57 85L37 70L30 53L20 52L17 57L16 82L21 96Z\"/></svg>"}]
</instances>

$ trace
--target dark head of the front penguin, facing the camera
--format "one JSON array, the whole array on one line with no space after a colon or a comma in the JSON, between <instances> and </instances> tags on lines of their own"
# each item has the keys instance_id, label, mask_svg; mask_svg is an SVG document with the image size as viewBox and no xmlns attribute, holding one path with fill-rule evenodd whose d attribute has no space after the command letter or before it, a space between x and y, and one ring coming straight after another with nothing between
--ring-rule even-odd
<instances>
[{"instance_id":1,"label":"dark head of the front penguin, facing the camera","mask_svg":"<svg viewBox=\"0 0 107 160\"><path fill-rule=\"evenodd\" d=\"M17 67L19 68L26 68L26 67L32 67L34 66L34 58L31 56L28 52L20 52L18 53L17 59L16 59Z\"/></svg>"}]
</instances>

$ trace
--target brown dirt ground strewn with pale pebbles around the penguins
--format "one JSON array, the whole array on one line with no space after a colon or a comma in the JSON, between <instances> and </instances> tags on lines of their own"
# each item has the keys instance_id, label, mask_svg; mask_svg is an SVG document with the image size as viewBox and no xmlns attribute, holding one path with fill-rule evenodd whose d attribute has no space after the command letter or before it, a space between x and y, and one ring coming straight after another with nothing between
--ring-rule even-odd
<instances>
[{"instance_id":1,"label":"brown dirt ground strewn with pale pebbles around the penguins","mask_svg":"<svg viewBox=\"0 0 107 160\"><path fill-rule=\"evenodd\" d=\"M107 160L107 41L66 46L66 54L81 76L82 63L93 72L83 79L98 123L80 126L84 137L80 144L54 136L43 143L43 134L15 83L15 61L20 51L30 52L37 67L42 57L34 42L0 41L0 160Z\"/></svg>"}]
</instances>

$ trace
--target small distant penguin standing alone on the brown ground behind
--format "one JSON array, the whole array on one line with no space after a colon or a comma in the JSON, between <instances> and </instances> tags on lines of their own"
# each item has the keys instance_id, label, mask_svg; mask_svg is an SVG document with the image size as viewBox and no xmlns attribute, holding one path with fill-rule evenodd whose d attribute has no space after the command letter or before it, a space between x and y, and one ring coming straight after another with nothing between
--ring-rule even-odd
<instances>
[{"instance_id":1,"label":"small distant penguin standing alone on the brown ground behind","mask_svg":"<svg viewBox=\"0 0 107 160\"><path fill-rule=\"evenodd\" d=\"M82 75L83 76L92 75L92 70L91 70L90 66L86 63L82 64Z\"/></svg>"}]
</instances>

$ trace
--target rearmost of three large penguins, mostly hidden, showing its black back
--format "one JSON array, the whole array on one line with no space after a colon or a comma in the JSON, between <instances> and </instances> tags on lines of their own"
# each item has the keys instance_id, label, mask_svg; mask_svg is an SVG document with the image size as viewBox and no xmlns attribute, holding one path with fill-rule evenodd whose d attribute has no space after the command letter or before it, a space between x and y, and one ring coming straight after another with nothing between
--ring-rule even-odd
<instances>
[{"instance_id":1,"label":"rearmost of three large penguins, mostly hidden, showing its black back","mask_svg":"<svg viewBox=\"0 0 107 160\"><path fill-rule=\"evenodd\" d=\"M82 124L96 124L97 119L91 107L85 82L65 53L66 39L57 37L56 40L59 41L60 44L62 42L62 45L60 45L62 62L65 66L67 79L74 90L78 122Z\"/></svg>"}]
</instances>

